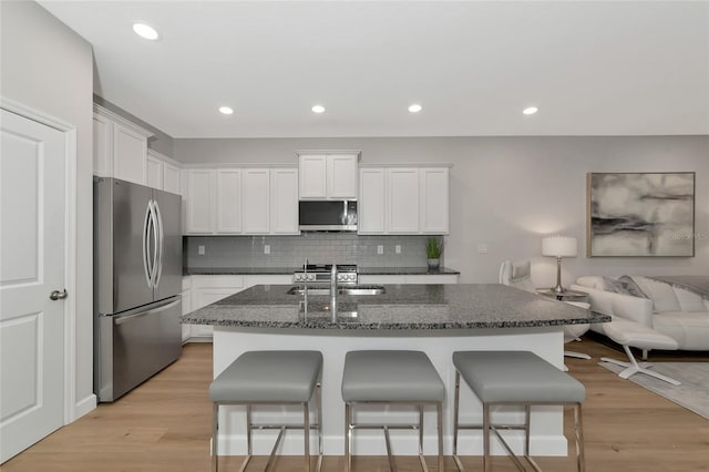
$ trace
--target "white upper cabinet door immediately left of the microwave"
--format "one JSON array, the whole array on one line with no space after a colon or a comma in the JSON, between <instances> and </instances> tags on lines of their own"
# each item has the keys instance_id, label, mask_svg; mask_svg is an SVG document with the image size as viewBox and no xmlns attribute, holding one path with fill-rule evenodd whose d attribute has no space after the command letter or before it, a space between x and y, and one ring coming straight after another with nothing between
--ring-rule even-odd
<instances>
[{"instance_id":1,"label":"white upper cabinet door immediately left of the microwave","mask_svg":"<svg viewBox=\"0 0 709 472\"><path fill-rule=\"evenodd\" d=\"M270 232L300 234L298 229L298 170L270 170Z\"/></svg>"}]
</instances>

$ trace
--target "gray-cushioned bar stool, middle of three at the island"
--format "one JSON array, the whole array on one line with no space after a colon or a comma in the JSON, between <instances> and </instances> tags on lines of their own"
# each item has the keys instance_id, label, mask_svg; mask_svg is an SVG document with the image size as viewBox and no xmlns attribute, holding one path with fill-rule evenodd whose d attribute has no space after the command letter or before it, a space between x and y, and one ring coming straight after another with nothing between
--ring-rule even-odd
<instances>
[{"instance_id":1,"label":"gray-cushioned bar stool, middle of three at the island","mask_svg":"<svg viewBox=\"0 0 709 472\"><path fill-rule=\"evenodd\" d=\"M434 404L438 414L439 471L443 471L442 406L445 387L429 357L420 351L367 350L350 351L345 358L342 400L345 400L345 470L351 469L351 441L354 429L383 429L389 469L395 470L391 456L390 429L419 431L419 460L428 471L423 458L423 407ZM418 407L417 424L356 424L357 404L410 404Z\"/></svg>"}]
</instances>

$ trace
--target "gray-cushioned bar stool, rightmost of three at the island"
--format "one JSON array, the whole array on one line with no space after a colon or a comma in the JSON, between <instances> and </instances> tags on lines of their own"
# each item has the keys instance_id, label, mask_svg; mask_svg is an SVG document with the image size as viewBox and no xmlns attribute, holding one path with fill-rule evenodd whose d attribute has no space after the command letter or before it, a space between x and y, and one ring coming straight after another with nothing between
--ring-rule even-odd
<instances>
[{"instance_id":1,"label":"gray-cushioned bar stool, rightmost of three at the island","mask_svg":"<svg viewBox=\"0 0 709 472\"><path fill-rule=\"evenodd\" d=\"M483 469L492 470L490 459L490 435L494 432L518 470L524 465L514 454L499 429L524 430L524 458L534 470L540 466L530 456L530 415L535 404L574 406L574 430L576 438L576 463L578 471L585 471L584 434L580 406L586 397L583 383L564 373L544 359L528 351L461 351L453 352L455 366L455 407L453 418L453 460L459 470L464 470L458 456L458 431L461 429L483 430ZM483 424L459 424L460 378L472 389L483 403ZM523 406L523 424L492 424L490 408L495 406Z\"/></svg>"}]
</instances>

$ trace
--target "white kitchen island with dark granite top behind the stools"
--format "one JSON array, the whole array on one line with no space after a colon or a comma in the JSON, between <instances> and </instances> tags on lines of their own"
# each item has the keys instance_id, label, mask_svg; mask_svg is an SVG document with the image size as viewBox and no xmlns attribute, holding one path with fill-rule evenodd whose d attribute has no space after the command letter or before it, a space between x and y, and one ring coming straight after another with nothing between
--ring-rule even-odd
<instances>
[{"instance_id":1,"label":"white kitchen island with dark granite top behind the stools","mask_svg":"<svg viewBox=\"0 0 709 472\"><path fill-rule=\"evenodd\" d=\"M340 397L345 355L358 349L412 349L424 351L446 386L443 411L444 450L452 451L452 406L455 371L451 356L456 350L530 350L563 368L563 326L605 322L610 318L503 285L387 285L380 295L339 295L338 314L332 319L328 295L312 295L307 304L291 286L255 286L199 310L183 322L214 326L214 376L248 350L314 349L325 357L322 372L323 448L326 454L343 453L345 407ZM294 294L295 291L295 294ZM481 420L476 398L461 388L462 422ZM360 411L361 410L361 411ZM223 408L219 450L245 453L244 409ZM386 410L386 421L408 422L414 413L405 408ZM429 414L431 417L429 417ZM299 421L298 409L266 408L255 421ZM381 409L358 409L359 422L381 421ZM424 451L435 450L432 412L427 412ZM537 408L532 414L532 453L565 455L563 413L559 407ZM521 421L522 410L495 411L496 421ZM511 432L511 443L522 444L522 435ZM386 454L379 431L361 430L354 435L353 453ZM266 439L268 438L268 439ZM256 454L268 454L273 440L268 432L254 437ZM315 448L315 434L312 447ZM395 454L417 454L415 434L392 431ZM314 451L315 452L315 449ZM287 435L282 454L301 453L298 433ZM459 453L482 454L479 431L464 431ZM502 453L493 448L493 453Z\"/></svg>"}]
</instances>

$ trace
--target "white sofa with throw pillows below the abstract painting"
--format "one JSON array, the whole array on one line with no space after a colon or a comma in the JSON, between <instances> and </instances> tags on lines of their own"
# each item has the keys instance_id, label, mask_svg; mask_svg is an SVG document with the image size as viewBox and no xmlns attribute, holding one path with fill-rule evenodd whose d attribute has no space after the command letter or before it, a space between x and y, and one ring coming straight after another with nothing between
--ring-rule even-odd
<instances>
[{"instance_id":1,"label":"white sofa with throw pillows below the abstract painting","mask_svg":"<svg viewBox=\"0 0 709 472\"><path fill-rule=\"evenodd\" d=\"M678 349L709 350L709 299L697 294L641 276L579 277L571 288L587 293L594 311L669 336ZM617 293L624 289L635 296ZM605 334L602 324L592 325L590 329Z\"/></svg>"}]
</instances>

